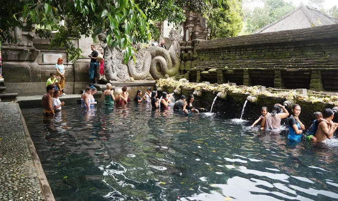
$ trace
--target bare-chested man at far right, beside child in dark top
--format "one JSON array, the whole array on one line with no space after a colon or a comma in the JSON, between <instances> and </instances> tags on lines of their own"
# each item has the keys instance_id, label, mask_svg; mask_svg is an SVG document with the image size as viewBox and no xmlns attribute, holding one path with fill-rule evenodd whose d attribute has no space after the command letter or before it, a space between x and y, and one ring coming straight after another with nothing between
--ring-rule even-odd
<instances>
[{"instance_id":1,"label":"bare-chested man at far right, beside child in dark top","mask_svg":"<svg viewBox=\"0 0 338 201\"><path fill-rule=\"evenodd\" d=\"M322 121L318 125L318 129L315 135L315 140L312 141L317 141L317 142L322 142L326 138L331 139L333 136L333 132L335 129L337 129L337 124L333 123L332 119L334 117L333 110L327 108L323 111L323 118L326 121Z\"/></svg>"}]
</instances>

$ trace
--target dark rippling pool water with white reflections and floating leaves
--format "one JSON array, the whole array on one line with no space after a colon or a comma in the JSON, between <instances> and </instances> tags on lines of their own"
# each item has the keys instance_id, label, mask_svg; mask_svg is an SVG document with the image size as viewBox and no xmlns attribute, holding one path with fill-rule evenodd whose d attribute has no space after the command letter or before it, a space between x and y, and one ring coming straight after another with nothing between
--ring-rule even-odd
<instances>
[{"instance_id":1,"label":"dark rippling pool water with white reflections and floating leaves","mask_svg":"<svg viewBox=\"0 0 338 201\"><path fill-rule=\"evenodd\" d=\"M290 142L250 121L150 105L23 109L56 200L334 200L338 140Z\"/></svg>"}]
</instances>

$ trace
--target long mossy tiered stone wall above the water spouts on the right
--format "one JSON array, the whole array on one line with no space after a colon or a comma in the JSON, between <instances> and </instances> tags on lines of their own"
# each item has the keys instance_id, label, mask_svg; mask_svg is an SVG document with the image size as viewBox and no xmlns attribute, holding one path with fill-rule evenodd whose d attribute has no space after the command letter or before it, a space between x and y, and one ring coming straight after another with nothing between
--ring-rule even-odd
<instances>
[{"instance_id":1,"label":"long mossy tiered stone wall above the water spouts on the right","mask_svg":"<svg viewBox=\"0 0 338 201\"><path fill-rule=\"evenodd\" d=\"M338 24L205 40L196 52L191 81L338 91Z\"/></svg>"}]
</instances>

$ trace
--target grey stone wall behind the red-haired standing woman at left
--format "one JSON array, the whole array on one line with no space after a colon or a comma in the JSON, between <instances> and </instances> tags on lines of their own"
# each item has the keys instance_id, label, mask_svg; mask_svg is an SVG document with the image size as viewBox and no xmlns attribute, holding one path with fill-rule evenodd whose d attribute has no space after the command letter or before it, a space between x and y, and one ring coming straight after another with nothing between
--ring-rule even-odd
<instances>
[{"instance_id":1,"label":"grey stone wall behind the red-haired standing woman at left","mask_svg":"<svg viewBox=\"0 0 338 201\"><path fill-rule=\"evenodd\" d=\"M66 93L80 93L90 82L88 75L90 59L79 59L73 64L67 60L64 48L49 49L49 40L36 36L29 26L23 29L16 28L16 37L21 42L16 45L2 45L6 92L18 93L19 96L44 94L50 73L56 73L54 66L59 57L64 59L66 69ZM88 39L91 42L88 42ZM82 48L84 44L89 44L87 48L90 50L92 39L82 38L73 42Z\"/></svg>"}]
</instances>

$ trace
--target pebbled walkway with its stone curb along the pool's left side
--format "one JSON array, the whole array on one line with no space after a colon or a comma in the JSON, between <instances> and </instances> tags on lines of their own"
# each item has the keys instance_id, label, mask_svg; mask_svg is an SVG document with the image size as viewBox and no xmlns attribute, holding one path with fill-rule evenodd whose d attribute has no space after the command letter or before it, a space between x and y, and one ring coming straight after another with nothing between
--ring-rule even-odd
<instances>
[{"instance_id":1,"label":"pebbled walkway with its stone curb along the pool's left side","mask_svg":"<svg viewBox=\"0 0 338 201\"><path fill-rule=\"evenodd\" d=\"M0 102L0 200L54 200L18 104Z\"/></svg>"}]
</instances>

